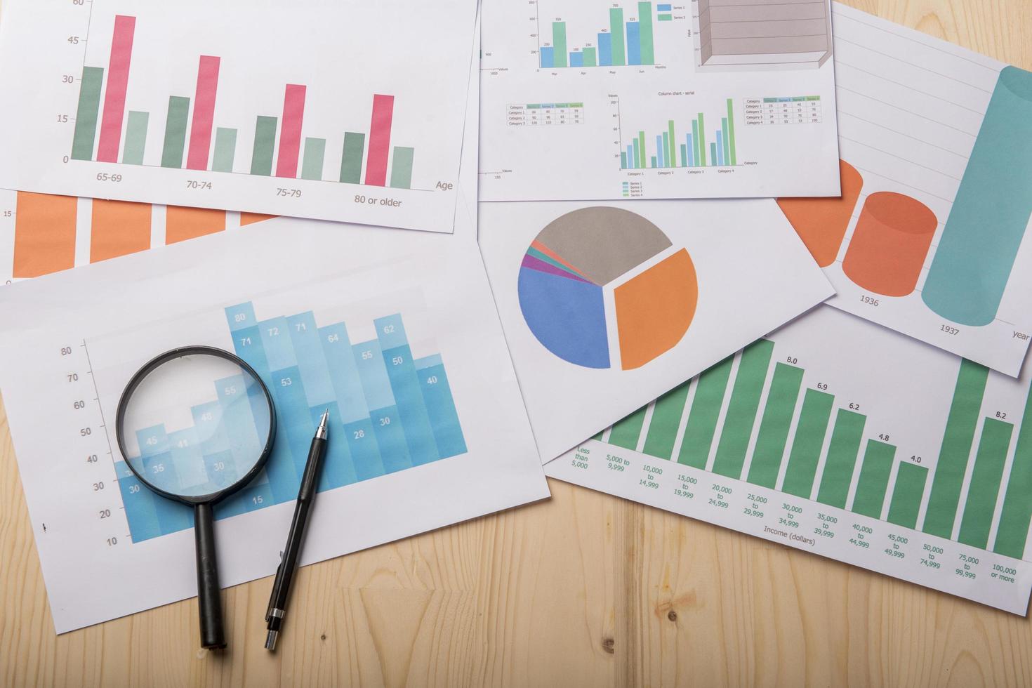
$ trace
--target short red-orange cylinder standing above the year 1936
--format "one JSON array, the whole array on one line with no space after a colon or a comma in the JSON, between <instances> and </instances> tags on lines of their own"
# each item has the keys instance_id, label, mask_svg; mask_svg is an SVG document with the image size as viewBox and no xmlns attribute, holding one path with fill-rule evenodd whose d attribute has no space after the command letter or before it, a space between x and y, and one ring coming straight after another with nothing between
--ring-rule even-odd
<instances>
[{"instance_id":1,"label":"short red-orange cylinder standing above the year 1936","mask_svg":"<svg viewBox=\"0 0 1032 688\"><path fill-rule=\"evenodd\" d=\"M921 201L891 191L871 194L842 261L857 285L884 296L913 292L938 220Z\"/></svg>"}]
</instances>

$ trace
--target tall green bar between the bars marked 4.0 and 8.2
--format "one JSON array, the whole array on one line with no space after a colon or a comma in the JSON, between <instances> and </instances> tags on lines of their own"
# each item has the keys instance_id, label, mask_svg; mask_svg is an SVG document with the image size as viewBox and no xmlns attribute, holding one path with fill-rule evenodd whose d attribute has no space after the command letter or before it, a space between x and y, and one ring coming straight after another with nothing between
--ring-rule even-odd
<instances>
[{"instance_id":1,"label":"tall green bar between the bars marked 4.0 and 8.2","mask_svg":"<svg viewBox=\"0 0 1032 688\"><path fill-rule=\"evenodd\" d=\"M971 443L978 424L978 412L986 392L989 368L961 359L954 400L949 406L946 431L942 435L939 461L932 476L932 494L928 498L924 531L949 539L957 519L961 486L967 472Z\"/></svg>"}]
</instances>

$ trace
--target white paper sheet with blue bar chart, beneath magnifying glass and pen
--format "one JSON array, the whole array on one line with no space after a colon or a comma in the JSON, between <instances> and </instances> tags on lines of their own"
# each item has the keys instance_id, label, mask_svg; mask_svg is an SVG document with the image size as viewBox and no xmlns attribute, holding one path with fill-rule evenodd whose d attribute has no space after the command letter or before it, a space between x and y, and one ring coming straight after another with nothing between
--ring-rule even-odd
<instances>
[{"instance_id":1,"label":"white paper sheet with blue bar chart, beneath magnifying glass and pen","mask_svg":"<svg viewBox=\"0 0 1032 688\"><path fill-rule=\"evenodd\" d=\"M548 495L469 241L277 219L5 287L0 316L0 391L58 632L196 594L191 510L141 486L114 437L129 378L174 347L235 352L277 405L266 468L215 509L224 585L276 570L268 533L286 532L327 406L305 563ZM229 388L163 429L169 451L189 451Z\"/></svg>"}]
</instances>

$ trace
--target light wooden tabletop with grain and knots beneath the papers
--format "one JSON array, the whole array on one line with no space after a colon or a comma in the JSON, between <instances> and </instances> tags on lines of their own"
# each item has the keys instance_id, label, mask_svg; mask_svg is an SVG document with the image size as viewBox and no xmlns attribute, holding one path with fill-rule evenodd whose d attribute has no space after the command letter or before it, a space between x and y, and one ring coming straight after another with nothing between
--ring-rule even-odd
<instances>
[{"instance_id":1,"label":"light wooden tabletop with grain and knots beneath the papers","mask_svg":"<svg viewBox=\"0 0 1032 688\"><path fill-rule=\"evenodd\" d=\"M1032 69L1029 0L849 4ZM275 655L271 579L225 593L222 656L198 651L194 600L59 637L0 411L0 685L1032 685L1028 620L551 487L304 568Z\"/></svg>"}]
</instances>

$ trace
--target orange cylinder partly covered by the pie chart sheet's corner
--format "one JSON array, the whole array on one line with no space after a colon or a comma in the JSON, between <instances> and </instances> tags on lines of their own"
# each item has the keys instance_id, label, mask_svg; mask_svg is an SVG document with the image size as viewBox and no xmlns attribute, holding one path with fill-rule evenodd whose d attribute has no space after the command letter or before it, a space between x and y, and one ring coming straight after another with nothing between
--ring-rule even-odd
<instances>
[{"instance_id":1,"label":"orange cylinder partly covered by the pie chart sheet's corner","mask_svg":"<svg viewBox=\"0 0 1032 688\"><path fill-rule=\"evenodd\" d=\"M779 198L777 204L796 228L803 243L820 267L835 262L842 238L857 207L864 177L857 168L839 160L842 177L841 198Z\"/></svg>"}]
</instances>

